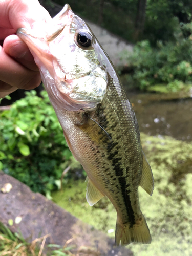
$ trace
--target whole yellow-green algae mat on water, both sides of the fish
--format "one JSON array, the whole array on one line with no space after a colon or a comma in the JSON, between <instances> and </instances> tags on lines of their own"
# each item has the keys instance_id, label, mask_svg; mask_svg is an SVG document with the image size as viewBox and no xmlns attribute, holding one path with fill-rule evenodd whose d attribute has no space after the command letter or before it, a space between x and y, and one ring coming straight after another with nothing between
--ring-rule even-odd
<instances>
[{"instance_id":1,"label":"whole yellow-green algae mat on water, both sides of the fish","mask_svg":"<svg viewBox=\"0 0 192 256\"><path fill-rule=\"evenodd\" d=\"M141 139L155 183L152 197L139 188L140 206L151 231L152 243L129 247L139 256L191 255L192 144L144 134ZM73 215L114 237L116 211L113 205L103 198L90 207L86 202L86 182L71 181L62 192L52 196Z\"/></svg>"}]
</instances>

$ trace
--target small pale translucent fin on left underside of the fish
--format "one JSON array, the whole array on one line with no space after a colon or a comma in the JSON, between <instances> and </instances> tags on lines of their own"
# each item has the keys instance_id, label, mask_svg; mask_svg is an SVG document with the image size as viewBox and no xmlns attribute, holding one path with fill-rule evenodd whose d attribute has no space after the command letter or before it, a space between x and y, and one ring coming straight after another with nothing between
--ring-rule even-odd
<instances>
[{"instance_id":1,"label":"small pale translucent fin on left underside of the fish","mask_svg":"<svg viewBox=\"0 0 192 256\"><path fill-rule=\"evenodd\" d=\"M87 185L87 193L86 193L86 199L90 206L93 206L96 204L101 198L104 197L102 193L95 187L95 185L92 183L92 181L87 177L86 181L88 181Z\"/></svg>"}]
</instances>

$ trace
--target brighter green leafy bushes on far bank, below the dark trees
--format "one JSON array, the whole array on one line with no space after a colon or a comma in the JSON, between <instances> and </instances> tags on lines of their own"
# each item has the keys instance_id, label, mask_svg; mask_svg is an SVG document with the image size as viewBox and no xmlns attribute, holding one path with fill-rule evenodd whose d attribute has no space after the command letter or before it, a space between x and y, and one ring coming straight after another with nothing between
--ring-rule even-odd
<instances>
[{"instance_id":1,"label":"brighter green leafy bushes on far bank, below the dark trees","mask_svg":"<svg viewBox=\"0 0 192 256\"><path fill-rule=\"evenodd\" d=\"M180 31L181 32L181 31ZM184 89L192 81L192 37L175 35L176 42L158 42L153 48L148 40L138 42L133 52L122 52L122 58L133 70L132 78L141 89L154 84L167 85L168 91Z\"/></svg>"}]
</instances>

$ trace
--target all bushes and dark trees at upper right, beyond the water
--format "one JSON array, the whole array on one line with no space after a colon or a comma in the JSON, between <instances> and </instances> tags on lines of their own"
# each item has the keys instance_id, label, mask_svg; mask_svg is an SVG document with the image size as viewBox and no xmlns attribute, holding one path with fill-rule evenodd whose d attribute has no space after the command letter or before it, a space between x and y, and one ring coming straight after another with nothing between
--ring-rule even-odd
<instances>
[{"instance_id":1,"label":"all bushes and dark trees at upper right, beyond the water","mask_svg":"<svg viewBox=\"0 0 192 256\"><path fill-rule=\"evenodd\" d=\"M127 81L142 90L160 92L191 87L191 12L192 4L187 0L147 1L141 38L145 40L137 42L133 53L122 53L131 71Z\"/></svg>"}]
</instances>

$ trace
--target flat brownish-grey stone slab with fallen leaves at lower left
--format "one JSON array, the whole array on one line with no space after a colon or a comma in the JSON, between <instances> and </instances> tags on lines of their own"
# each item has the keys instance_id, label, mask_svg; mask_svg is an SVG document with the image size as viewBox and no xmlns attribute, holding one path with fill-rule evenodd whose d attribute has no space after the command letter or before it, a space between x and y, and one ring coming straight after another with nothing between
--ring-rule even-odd
<instances>
[{"instance_id":1,"label":"flat brownish-grey stone slab with fallen leaves at lower left","mask_svg":"<svg viewBox=\"0 0 192 256\"><path fill-rule=\"evenodd\" d=\"M21 232L28 242L50 234L46 244L64 246L69 239L74 238L70 245L74 245L72 252L78 252L78 255L133 255L129 249L116 248L114 241L106 234L78 220L41 194L33 193L25 184L0 172L0 189L6 183L10 183L13 188L9 193L0 193L0 222L12 232Z\"/></svg>"}]
</instances>

